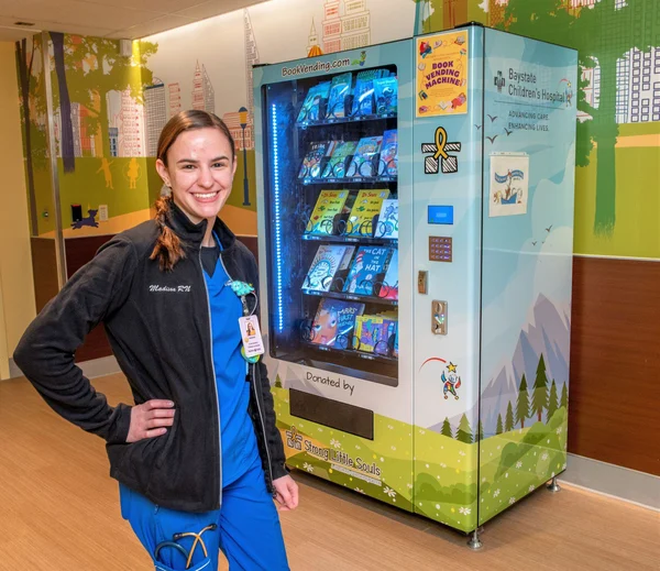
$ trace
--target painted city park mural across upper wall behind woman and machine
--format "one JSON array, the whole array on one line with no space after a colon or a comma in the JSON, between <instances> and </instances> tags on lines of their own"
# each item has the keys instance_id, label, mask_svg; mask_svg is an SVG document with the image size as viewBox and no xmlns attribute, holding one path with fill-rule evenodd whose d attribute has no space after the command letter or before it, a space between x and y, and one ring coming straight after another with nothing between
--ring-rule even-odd
<instances>
[{"instance_id":1,"label":"painted city park mural across upper wall behind woman and machine","mask_svg":"<svg viewBox=\"0 0 660 571\"><path fill-rule=\"evenodd\" d=\"M162 125L182 109L209 109L228 123L240 151L227 216L238 232L254 234L253 65L471 20L579 50L575 252L660 257L660 197L652 191L660 147L660 3L653 0L274 0L135 42L132 58L118 55L117 41L51 34L62 173L70 177L85 168L89 175L74 184L79 191L70 201L82 204L84 213L88 201L108 204L110 218L146 211L162 186L150 167ZM40 41L19 44L16 61L21 98L29 101L23 117L32 125L24 136L28 186L38 187L31 221L41 234L53 230L53 217L45 217L52 210L48 177L34 169L45 163ZM243 56L218 55L237 51ZM97 185L116 193L108 197Z\"/></svg>"}]
</instances>

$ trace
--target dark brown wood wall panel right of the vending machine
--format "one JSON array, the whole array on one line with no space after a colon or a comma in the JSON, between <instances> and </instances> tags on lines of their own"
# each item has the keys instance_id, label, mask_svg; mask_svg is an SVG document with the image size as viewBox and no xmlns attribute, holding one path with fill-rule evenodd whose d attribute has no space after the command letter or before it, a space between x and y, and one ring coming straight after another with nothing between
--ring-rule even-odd
<instances>
[{"instance_id":1,"label":"dark brown wood wall panel right of the vending machine","mask_svg":"<svg viewBox=\"0 0 660 571\"><path fill-rule=\"evenodd\" d=\"M569 452L660 475L660 262L575 257Z\"/></svg>"}]
</instances>

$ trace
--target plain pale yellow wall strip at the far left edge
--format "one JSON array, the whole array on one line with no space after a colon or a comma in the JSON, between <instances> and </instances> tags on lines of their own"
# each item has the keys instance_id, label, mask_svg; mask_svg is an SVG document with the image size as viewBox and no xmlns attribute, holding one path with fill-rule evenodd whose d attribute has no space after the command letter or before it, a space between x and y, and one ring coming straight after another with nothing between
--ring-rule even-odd
<instances>
[{"instance_id":1,"label":"plain pale yellow wall strip at the far left edge","mask_svg":"<svg viewBox=\"0 0 660 571\"><path fill-rule=\"evenodd\" d=\"M35 316L19 85L11 42L0 42L0 362L7 363Z\"/></svg>"}]
</instances>

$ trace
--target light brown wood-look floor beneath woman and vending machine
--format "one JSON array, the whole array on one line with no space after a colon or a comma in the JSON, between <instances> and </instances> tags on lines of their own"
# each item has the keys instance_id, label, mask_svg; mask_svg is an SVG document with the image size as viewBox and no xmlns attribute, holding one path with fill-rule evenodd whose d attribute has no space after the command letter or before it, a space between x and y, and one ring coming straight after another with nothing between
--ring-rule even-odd
<instances>
[{"instance_id":1,"label":"light brown wood-look floor beneath woman and vending machine","mask_svg":"<svg viewBox=\"0 0 660 571\"><path fill-rule=\"evenodd\" d=\"M95 386L129 402L120 375ZM294 571L660 569L658 513L578 488L515 505L472 552L451 529L296 477L300 507L282 515ZM117 496L100 439L56 417L25 381L0 383L1 571L153 569Z\"/></svg>"}]
</instances>

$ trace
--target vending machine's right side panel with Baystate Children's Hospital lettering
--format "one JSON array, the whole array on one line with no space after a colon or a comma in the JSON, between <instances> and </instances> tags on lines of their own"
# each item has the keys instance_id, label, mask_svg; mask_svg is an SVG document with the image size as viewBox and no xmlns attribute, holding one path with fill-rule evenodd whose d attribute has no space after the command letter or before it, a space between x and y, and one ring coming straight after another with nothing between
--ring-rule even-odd
<instances>
[{"instance_id":1,"label":"vending machine's right side panel with Baystate Children's Hospital lettering","mask_svg":"<svg viewBox=\"0 0 660 571\"><path fill-rule=\"evenodd\" d=\"M565 469L576 53L485 35L480 525Z\"/></svg>"}]
</instances>

